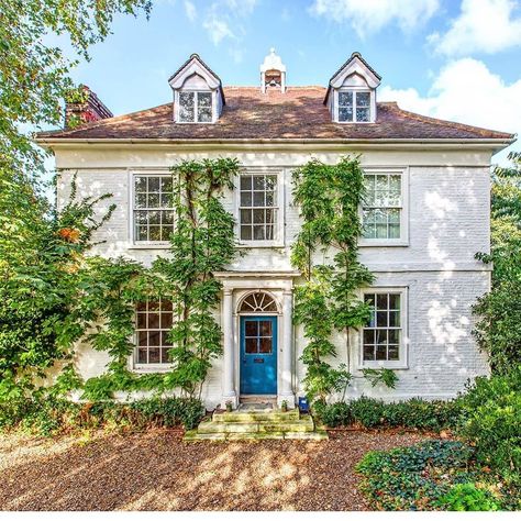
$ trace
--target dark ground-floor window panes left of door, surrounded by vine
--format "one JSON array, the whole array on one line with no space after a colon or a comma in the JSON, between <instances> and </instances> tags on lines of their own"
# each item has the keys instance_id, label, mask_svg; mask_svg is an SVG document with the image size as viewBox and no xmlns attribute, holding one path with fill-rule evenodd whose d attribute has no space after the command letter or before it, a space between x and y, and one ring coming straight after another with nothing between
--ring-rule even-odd
<instances>
[{"instance_id":1,"label":"dark ground-floor window panes left of door, surrounded by vine","mask_svg":"<svg viewBox=\"0 0 521 521\"><path fill-rule=\"evenodd\" d=\"M171 302L168 300L159 299L137 303L135 318L136 365L169 363L168 351L171 348L171 343L168 340L168 332L173 320Z\"/></svg>"}]
</instances>

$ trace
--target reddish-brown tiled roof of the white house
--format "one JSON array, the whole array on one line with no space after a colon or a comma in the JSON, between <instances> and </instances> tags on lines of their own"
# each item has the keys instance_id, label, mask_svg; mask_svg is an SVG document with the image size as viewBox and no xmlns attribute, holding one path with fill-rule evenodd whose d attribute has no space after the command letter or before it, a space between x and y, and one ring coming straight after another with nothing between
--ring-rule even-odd
<instances>
[{"instance_id":1,"label":"reddish-brown tiled roof of the white house","mask_svg":"<svg viewBox=\"0 0 521 521\"><path fill-rule=\"evenodd\" d=\"M214 124L173 121L173 103L100 120L85 126L42 132L44 138L149 140L511 140L512 134L404 111L379 102L375 123L331 121L322 103L325 88L289 87L285 93L257 87L225 87L226 106Z\"/></svg>"}]
</instances>

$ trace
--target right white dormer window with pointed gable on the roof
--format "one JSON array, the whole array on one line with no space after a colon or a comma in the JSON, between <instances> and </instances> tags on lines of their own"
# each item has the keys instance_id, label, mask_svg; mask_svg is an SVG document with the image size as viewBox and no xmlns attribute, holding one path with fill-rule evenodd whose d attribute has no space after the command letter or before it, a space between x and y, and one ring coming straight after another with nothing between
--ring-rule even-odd
<instances>
[{"instance_id":1,"label":"right white dormer window with pointed gable on the roof","mask_svg":"<svg viewBox=\"0 0 521 521\"><path fill-rule=\"evenodd\" d=\"M380 77L359 53L330 79L324 104L337 123L374 123L376 121L376 89Z\"/></svg>"}]
</instances>

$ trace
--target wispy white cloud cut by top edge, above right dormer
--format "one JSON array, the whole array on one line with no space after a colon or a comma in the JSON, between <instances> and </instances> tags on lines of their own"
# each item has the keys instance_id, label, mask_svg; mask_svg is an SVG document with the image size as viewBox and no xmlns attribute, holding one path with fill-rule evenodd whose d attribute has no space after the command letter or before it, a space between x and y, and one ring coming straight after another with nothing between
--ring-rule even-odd
<instances>
[{"instance_id":1,"label":"wispy white cloud cut by top edge, above right dormer","mask_svg":"<svg viewBox=\"0 0 521 521\"><path fill-rule=\"evenodd\" d=\"M389 23L412 31L437 10L439 0L314 0L311 13L350 23L358 36L377 32Z\"/></svg>"}]
</instances>

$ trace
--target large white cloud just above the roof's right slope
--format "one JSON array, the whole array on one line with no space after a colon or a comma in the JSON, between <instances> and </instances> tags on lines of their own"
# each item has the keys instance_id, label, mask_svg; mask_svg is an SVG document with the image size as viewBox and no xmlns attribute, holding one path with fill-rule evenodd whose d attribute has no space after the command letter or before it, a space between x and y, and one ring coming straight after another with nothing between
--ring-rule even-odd
<instances>
[{"instance_id":1,"label":"large white cloud just above the roof's right slope","mask_svg":"<svg viewBox=\"0 0 521 521\"><path fill-rule=\"evenodd\" d=\"M477 59L447 64L434 78L428 96L415 89L379 89L381 101L398 101L406 110L521 135L521 78L512 84ZM521 148L514 144L514 148Z\"/></svg>"}]
</instances>

